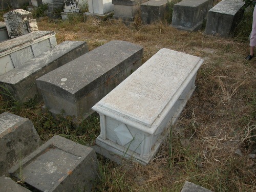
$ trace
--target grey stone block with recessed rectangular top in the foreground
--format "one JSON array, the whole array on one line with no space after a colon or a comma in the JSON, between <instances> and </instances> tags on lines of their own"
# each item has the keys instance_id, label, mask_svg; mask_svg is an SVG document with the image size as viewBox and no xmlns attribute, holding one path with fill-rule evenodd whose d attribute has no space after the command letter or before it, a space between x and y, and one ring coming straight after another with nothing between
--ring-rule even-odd
<instances>
[{"instance_id":1,"label":"grey stone block with recessed rectangular top in the foreground","mask_svg":"<svg viewBox=\"0 0 256 192\"><path fill-rule=\"evenodd\" d=\"M9 173L23 177L33 191L91 191L97 169L97 157L91 147L55 135Z\"/></svg>"}]
</instances>

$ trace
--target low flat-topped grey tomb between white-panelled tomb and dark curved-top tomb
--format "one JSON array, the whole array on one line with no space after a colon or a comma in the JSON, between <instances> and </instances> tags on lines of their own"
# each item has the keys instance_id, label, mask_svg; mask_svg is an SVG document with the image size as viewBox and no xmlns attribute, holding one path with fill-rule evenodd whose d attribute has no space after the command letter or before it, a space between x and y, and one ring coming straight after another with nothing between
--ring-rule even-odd
<instances>
[{"instance_id":1,"label":"low flat-topped grey tomb between white-panelled tomb and dark curved-top tomb","mask_svg":"<svg viewBox=\"0 0 256 192\"><path fill-rule=\"evenodd\" d=\"M42 96L36 87L35 80L88 51L88 45L84 41L64 41L28 60L24 65L0 75L2 97L26 102L38 96L37 100L41 100Z\"/></svg>"}]
</instances>

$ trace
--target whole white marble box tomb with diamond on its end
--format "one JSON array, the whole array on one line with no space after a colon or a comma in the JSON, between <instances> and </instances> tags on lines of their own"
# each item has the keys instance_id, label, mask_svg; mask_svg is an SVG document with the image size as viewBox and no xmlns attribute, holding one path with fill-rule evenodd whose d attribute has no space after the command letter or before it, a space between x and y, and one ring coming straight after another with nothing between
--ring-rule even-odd
<instances>
[{"instance_id":1,"label":"whole white marble box tomb with diamond on its end","mask_svg":"<svg viewBox=\"0 0 256 192\"><path fill-rule=\"evenodd\" d=\"M195 90L203 60L161 49L101 99L96 144L141 164L150 163ZM170 126L170 125L169 125Z\"/></svg>"}]
</instances>

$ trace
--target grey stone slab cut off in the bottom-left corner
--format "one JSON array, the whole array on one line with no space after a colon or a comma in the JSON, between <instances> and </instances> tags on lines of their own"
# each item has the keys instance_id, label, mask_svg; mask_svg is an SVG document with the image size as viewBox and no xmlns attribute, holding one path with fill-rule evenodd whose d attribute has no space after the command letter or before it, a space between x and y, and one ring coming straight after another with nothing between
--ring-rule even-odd
<instances>
[{"instance_id":1,"label":"grey stone slab cut off in the bottom-left corner","mask_svg":"<svg viewBox=\"0 0 256 192\"><path fill-rule=\"evenodd\" d=\"M17 184L9 177L0 177L0 191L1 192L31 192L25 187Z\"/></svg>"}]
</instances>

